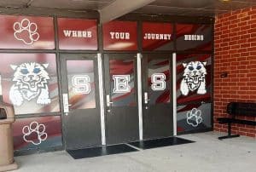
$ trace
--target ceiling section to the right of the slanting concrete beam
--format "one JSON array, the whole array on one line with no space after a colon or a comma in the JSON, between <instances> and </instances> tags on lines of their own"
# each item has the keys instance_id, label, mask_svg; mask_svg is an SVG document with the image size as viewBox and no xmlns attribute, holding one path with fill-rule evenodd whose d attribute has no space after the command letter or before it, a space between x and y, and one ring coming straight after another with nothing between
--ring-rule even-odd
<instances>
[{"instance_id":1,"label":"ceiling section to the right of the slanting concrete beam","mask_svg":"<svg viewBox=\"0 0 256 172\"><path fill-rule=\"evenodd\" d=\"M220 0L156 0L135 13L214 16L250 6L256 6L256 0L232 0L228 3Z\"/></svg>"}]
</instances>

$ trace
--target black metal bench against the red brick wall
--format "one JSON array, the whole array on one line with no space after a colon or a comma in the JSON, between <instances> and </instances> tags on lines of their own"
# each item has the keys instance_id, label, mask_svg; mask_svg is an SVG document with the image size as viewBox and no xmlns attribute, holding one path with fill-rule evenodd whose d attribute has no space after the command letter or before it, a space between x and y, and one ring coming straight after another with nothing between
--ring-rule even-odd
<instances>
[{"instance_id":1,"label":"black metal bench against the red brick wall","mask_svg":"<svg viewBox=\"0 0 256 172\"><path fill-rule=\"evenodd\" d=\"M256 103L230 102L227 106L227 113L230 118L217 118L218 123L228 123L228 135L218 137L219 140L239 137L240 135L231 135L231 124L239 123L245 125L256 125L256 121L236 119L237 116L256 117Z\"/></svg>"}]
</instances>

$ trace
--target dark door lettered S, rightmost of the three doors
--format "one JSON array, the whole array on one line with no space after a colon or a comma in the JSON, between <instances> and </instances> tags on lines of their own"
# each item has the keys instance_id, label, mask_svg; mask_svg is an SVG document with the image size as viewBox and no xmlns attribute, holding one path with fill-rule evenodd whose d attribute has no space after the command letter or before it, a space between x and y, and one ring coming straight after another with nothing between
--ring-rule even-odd
<instances>
[{"instance_id":1,"label":"dark door lettered S, rightmost of the three doors","mask_svg":"<svg viewBox=\"0 0 256 172\"><path fill-rule=\"evenodd\" d=\"M143 139L173 135L172 54L143 54Z\"/></svg>"}]
</instances>

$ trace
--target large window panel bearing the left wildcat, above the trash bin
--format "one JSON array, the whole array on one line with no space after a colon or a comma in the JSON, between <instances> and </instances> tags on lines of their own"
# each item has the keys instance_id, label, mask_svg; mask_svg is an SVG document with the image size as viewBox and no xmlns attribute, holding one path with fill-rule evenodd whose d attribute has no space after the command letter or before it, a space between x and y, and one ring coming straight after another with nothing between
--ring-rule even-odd
<instances>
[{"instance_id":1,"label":"large window panel bearing the left wildcat, above the trash bin","mask_svg":"<svg viewBox=\"0 0 256 172\"><path fill-rule=\"evenodd\" d=\"M55 54L0 54L3 101L15 114L60 112Z\"/></svg>"}]
</instances>

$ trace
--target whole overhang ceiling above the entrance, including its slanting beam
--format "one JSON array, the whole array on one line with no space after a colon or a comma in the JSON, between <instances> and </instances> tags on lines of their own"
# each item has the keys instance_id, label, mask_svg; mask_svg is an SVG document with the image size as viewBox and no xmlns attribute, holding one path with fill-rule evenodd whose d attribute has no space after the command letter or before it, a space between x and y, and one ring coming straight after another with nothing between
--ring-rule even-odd
<instances>
[{"instance_id":1,"label":"whole overhang ceiling above the entrance, including its slanting beam","mask_svg":"<svg viewBox=\"0 0 256 172\"><path fill-rule=\"evenodd\" d=\"M123 2L129 2L120 5ZM113 20L123 14L173 14L192 16L214 16L234 9L256 6L256 0L232 0L223 3L220 0L0 0L0 8L50 8L96 10L105 21ZM143 2L143 3L142 3ZM117 13L119 11L119 13ZM120 11L123 11L121 13Z\"/></svg>"}]
</instances>

